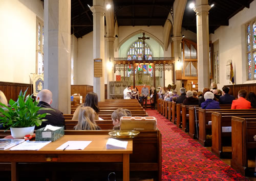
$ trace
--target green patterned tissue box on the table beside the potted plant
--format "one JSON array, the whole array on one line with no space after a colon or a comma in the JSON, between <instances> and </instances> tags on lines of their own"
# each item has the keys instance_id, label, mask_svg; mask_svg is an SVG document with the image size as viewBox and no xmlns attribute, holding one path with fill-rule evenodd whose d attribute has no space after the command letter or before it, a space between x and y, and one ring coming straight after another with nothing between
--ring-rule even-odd
<instances>
[{"instance_id":1,"label":"green patterned tissue box on the table beside the potted plant","mask_svg":"<svg viewBox=\"0 0 256 181\"><path fill-rule=\"evenodd\" d=\"M55 131L44 131L45 127L35 131L36 141L56 141L64 135L64 126Z\"/></svg>"}]
</instances>

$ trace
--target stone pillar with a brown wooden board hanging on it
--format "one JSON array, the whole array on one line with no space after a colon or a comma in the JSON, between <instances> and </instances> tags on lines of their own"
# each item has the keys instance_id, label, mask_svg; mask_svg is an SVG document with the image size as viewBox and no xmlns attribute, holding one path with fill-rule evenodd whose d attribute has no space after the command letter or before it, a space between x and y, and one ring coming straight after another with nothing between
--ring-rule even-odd
<instances>
[{"instance_id":1,"label":"stone pillar with a brown wooden board hanging on it","mask_svg":"<svg viewBox=\"0 0 256 181\"><path fill-rule=\"evenodd\" d=\"M103 73L102 77L93 77L93 91L98 95L99 101L105 100L104 77L105 77L105 61L104 61L104 12L103 1L93 1L93 58L101 58ZM92 61L93 63L93 61Z\"/></svg>"}]
</instances>

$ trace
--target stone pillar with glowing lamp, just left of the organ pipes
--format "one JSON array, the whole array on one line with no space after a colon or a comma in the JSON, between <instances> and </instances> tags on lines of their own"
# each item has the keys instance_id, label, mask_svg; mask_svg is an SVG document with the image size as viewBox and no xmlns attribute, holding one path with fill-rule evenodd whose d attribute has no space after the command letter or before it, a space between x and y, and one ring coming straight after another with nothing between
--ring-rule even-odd
<instances>
[{"instance_id":1,"label":"stone pillar with glowing lamp, just left of the organ pipes","mask_svg":"<svg viewBox=\"0 0 256 181\"><path fill-rule=\"evenodd\" d=\"M173 37L172 40L174 41L174 59L175 59L175 71L181 70L182 64L181 64L181 40L182 37L177 36ZM178 61L179 60L179 61ZM182 87L181 80L176 80L176 72L174 73L174 81L176 84L176 90L178 93L180 93L180 88Z\"/></svg>"}]
</instances>

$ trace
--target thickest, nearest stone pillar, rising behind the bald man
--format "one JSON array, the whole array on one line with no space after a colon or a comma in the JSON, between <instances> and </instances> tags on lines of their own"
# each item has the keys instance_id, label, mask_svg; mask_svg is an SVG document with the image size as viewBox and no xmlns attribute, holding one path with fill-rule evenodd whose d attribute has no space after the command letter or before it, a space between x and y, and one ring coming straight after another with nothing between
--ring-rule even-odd
<instances>
[{"instance_id":1,"label":"thickest, nearest stone pillar, rising behind the bald man","mask_svg":"<svg viewBox=\"0 0 256 181\"><path fill-rule=\"evenodd\" d=\"M44 89L53 93L53 108L70 114L71 1L45 0L44 6Z\"/></svg>"}]
</instances>

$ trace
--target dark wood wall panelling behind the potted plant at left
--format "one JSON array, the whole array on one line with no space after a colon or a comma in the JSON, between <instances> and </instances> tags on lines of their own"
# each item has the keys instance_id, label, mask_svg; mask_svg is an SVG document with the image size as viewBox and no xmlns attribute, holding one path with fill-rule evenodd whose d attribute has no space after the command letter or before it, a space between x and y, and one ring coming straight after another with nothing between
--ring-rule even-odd
<instances>
[{"instance_id":1,"label":"dark wood wall panelling behind the potted plant at left","mask_svg":"<svg viewBox=\"0 0 256 181\"><path fill-rule=\"evenodd\" d=\"M28 88L27 95L33 93L32 84L0 82L0 90L4 92L8 102L10 99L17 100L20 90L23 92Z\"/></svg>"}]
</instances>

